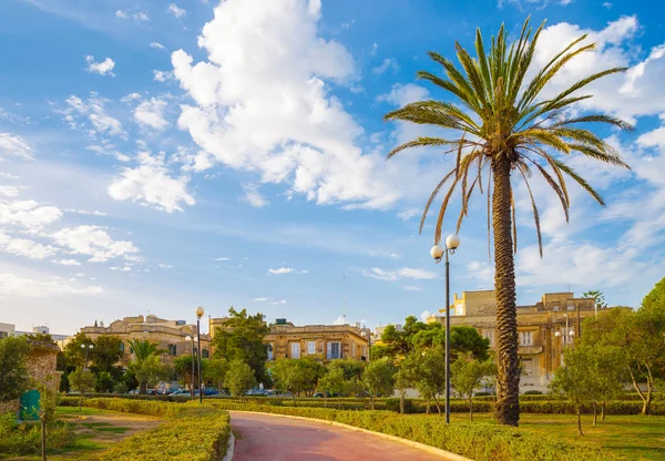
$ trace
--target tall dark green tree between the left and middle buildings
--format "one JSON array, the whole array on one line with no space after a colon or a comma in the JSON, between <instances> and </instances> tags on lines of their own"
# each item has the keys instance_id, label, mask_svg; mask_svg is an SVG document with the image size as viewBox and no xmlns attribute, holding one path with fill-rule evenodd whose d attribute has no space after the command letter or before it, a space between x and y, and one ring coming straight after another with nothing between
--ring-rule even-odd
<instances>
[{"instance_id":1,"label":"tall dark green tree between the left and middle buildings","mask_svg":"<svg viewBox=\"0 0 665 461\"><path fill-rule=\"evenodd\" d=\"M270 331L263 314L248 315L247 309L241 311L233 307L228 309L228 319L223 327L215 331L212 346L215 349L213 358L242 360L254 370L256 379L267 382L266 360L267 346L264 337Z\"/></svg>"}]
</instances>

